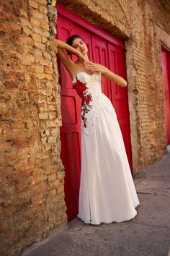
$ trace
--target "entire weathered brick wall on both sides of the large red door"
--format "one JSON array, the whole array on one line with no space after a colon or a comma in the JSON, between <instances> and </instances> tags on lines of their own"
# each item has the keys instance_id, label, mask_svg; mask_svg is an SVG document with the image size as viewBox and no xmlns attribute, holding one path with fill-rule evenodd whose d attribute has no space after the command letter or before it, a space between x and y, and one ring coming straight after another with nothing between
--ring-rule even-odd
<instances>
[{"instance_id":1,"label":"entire weathered brick wall on both sides of the large red door","mask_svg":"<svg viewBox=\"0 0 170 256\"><path fill-rule=\"evenodd\" d=\"M161 44L170 48L169 3L58 0L125 40L134 172L165 152ZM66 222L60 159L60 86L56 46L48 43L46 0L1 4L1 255Z\"/></svg>"}]
</instances>

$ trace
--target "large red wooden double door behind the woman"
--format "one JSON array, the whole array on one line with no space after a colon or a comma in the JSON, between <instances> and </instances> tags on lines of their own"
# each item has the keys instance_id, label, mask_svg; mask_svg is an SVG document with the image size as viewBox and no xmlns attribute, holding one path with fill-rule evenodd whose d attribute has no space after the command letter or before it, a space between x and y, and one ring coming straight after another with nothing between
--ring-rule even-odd
<instances>
[{"instance_id":1,"label":"large red wooden double door behind the woman","mask_svg":"<svg viewBox=\"0 0 170 256\"><path fill-rule=\"evenodd\" d=\"M117 38L104 33L57 4L58 38L66 41L73 34L81 35L89 48L89 59L104 64L125 78L125 46ZM92 46L92 48L91 48ZM92 49L92 51L91 51ZM80 120L81 101L73 90L71 77L63 64L58 62L61 85L61 159L65 167L65 200L68 220L78 212L80 182ZM102 90L112 101L122 130L128 160L131 166L130 126L127 88L103 78Z\"/></svg>"}]
</instances>

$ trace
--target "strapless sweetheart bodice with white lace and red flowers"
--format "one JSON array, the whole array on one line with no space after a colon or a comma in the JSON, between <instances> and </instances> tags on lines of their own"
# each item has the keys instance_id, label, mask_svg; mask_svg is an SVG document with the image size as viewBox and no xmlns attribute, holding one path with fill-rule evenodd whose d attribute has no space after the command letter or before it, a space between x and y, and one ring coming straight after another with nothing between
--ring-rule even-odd
<instances>
[{"instance_id":1,"label":"strapless sweetheart bodice with white lace and red flowers","mask_svg":"<svg viewBox=\"0 0 170 256\"><path fill-rule=\"evenodd\" d=\"M115 109L109 98L102 93L102 74L100 72L93 74L79 72L73 78L73 88L82 99L81 129L89 134L100 109L105 108L109 111L115 111Z\"/></svg>"}]
</instances>

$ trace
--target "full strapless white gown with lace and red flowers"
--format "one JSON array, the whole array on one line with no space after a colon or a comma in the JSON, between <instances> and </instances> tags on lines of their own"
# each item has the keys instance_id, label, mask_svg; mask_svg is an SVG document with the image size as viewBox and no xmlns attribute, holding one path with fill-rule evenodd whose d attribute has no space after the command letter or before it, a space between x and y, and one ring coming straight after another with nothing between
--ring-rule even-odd
<instances>
[{"instance_id":1,"label":"full strapless white gown with lace and red flowers","mask_svg":"<svg viewBox=\"0 0 170 256\"><path fill-rule=\"evenodd\" d=\"M101 81L99 72L73 78L82 98L78 217L94 225L128 221L139 204L115 109Z\"/></svg>"}]
</instances>

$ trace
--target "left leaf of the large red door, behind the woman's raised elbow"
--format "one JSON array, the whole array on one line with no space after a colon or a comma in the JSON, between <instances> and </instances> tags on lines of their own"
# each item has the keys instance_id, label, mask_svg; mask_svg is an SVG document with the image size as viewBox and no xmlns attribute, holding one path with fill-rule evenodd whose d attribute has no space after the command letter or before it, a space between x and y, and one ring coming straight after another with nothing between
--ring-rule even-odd
<instances>
[{"instance_id":1,"label":"left leaf of the large red door, behind the woman's raised elbow","mask_svg":"<svg viewBox=\"0 0 170 256\"><path fill-rule=\"evenodd\" d=\"M58 16L58 38L66 41L72 35L72 31L72 22ZM58 61L58 68L60 71L62 114L61 159L65 168L66 213L68 219L71 219L76 216L79 207L81 100L73 90L70 74L63 67L61 61Z\"/></svg>"}]
</instances>

